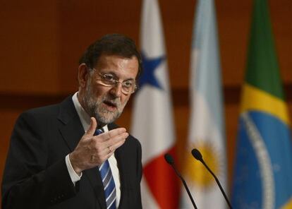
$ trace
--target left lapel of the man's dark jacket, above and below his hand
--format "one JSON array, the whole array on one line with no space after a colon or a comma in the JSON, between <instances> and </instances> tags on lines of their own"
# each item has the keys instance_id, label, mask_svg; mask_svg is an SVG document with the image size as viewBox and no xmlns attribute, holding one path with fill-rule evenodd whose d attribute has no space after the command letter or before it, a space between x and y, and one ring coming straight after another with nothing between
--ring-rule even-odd
<instances>
[{"instance_id":1,"label":"left lapel of the man's dark jacket, above and below his hand","mask_svg":"<svg viewBox=\"0 0 292 209\"><path fill-rule=\"evenodd\" d=\"M71 97L68 97L61 103L58 119L62 122L62 125L59 127L59 131L63 136L64 141L66 141L68 148L72 152L78 145L80 138L85 132ZM85 174L85 177L89 179L100 207L107 208L102 179L97 167L87 169L83 171L83 174Z\"/></svg>"}]
</instances>

